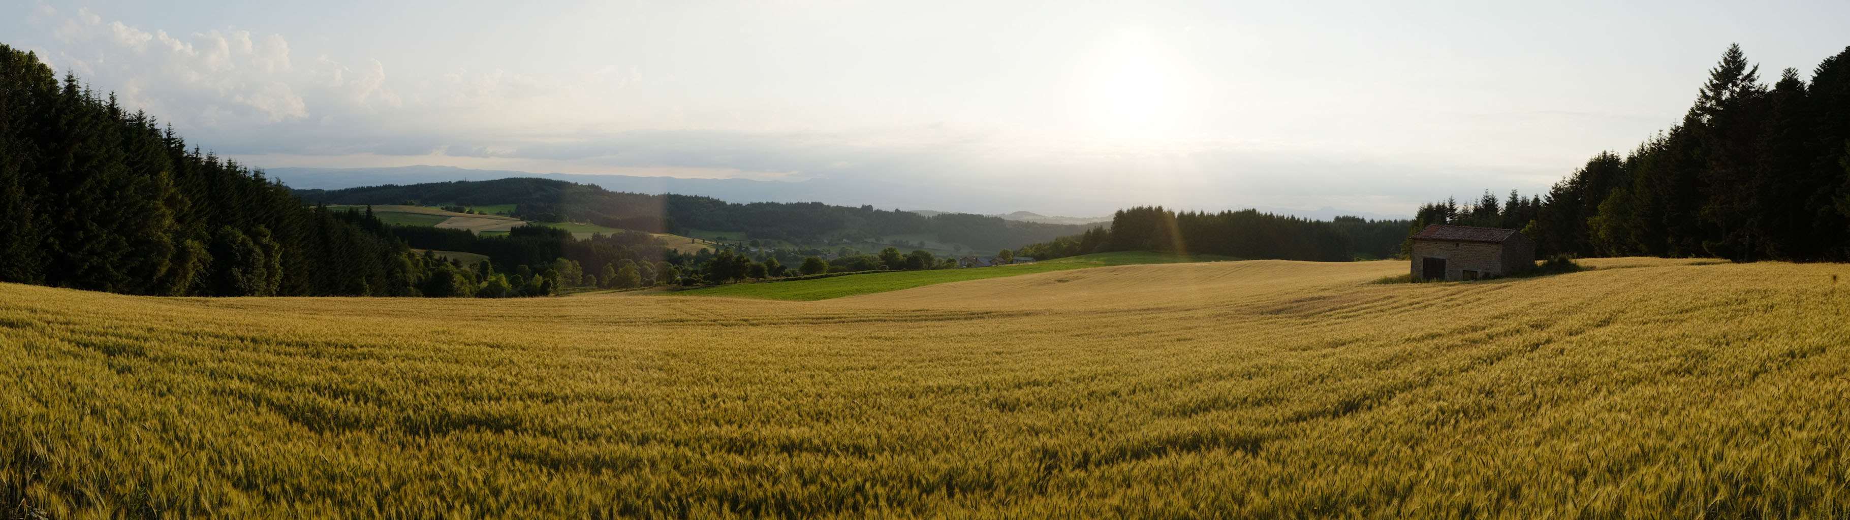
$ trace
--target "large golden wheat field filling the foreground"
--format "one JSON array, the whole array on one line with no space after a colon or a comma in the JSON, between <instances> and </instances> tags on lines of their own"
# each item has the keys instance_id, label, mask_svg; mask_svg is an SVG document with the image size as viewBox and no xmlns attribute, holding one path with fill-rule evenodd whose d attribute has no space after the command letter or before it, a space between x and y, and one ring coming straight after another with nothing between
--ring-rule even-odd
<instances>
[{"instance_id":1,"label":"large golden wheat field filling the foreground","mask_svg":"<svg viewBox=\"0 0 1850 520\"><path fill-rule=\"evenodd\" d=\"M1844 518L1850 266L1099 266L823 302L0 285L0 509ZM1837 276L1837 278L1833 278Z\"/></svg>"}]
</instances>

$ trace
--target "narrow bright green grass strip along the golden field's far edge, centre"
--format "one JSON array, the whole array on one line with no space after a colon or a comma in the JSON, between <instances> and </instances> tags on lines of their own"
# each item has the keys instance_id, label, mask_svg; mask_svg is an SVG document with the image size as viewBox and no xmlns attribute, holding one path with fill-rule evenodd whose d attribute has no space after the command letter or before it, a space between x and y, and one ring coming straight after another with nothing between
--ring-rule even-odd
<instances>
[{"instance_id":1,"label":"narrow bright green grass strip along the golden field's far edge, centre","mask_svg":"<svg viewBox=\"0 0 1850 520\"><path fill-rule=\"evenodd\" d=\"M649 294L651 296L653 294L734 296L734 298L814 302L814 300L875 294L875 292L901 291L912 287L951 283L951 281L990 279L990 278L1054 272L1069 268L1141 265L1141 263L1221 261L1221 259L1228 257L1217 257L1217 255L1186 257L1186 255L1166 255L1149 252L1117 252L1117 254L1077 255L1077 257L1025 263L1025 265L871 272L871 274L851 274L851 276L797 279L797 281L734 283L734 285L720 285L720 287L705 287L705 289L690 289L675 292L649 292Z\"/></svg>"}]
</instances>

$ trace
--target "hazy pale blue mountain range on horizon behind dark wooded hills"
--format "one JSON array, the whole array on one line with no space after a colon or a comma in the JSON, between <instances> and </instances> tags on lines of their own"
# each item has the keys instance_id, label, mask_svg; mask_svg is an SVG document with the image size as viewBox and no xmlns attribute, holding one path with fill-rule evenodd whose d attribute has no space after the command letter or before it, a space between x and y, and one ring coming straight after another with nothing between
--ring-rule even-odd
<instances>
[{"instance_id":1,"label":"hazy pale blue mountain range on horizon behind dark wooded hills","mask_svg":"<svg viewBox=\"0 0 1850 520\"><path fill-rule=\"evenodd\" d=\"M265 174L281 180L292 189L348 189L372 185L414 185L442 181L485 181L503 178L542 178L574 183L598 185L607 191L644 192L644 194L697 194L725 202L823 202L832 205L873 205L873 207L929 207L929 205L977 205L990 211L1014 205L1006 196L988 196L968 189L938 187L925 189L906 183L845 178L845 180L807 180L807 181L755 181L755 180L684 180L684 178L638 178L638 176L598 176L598 174L535 174L516 170L474 170L457 167L392 167L392 168L265 168ZM1019 207L1019 205L1016 205ZM1241 207L1243 209L1243 207ZM1404 215L1376 215L1347 211L1336 207L1286 209L1254 207L1264 213L1295 215L1299 218L1330 220L1338 215L1362 218L1406 218ZM925 217L945 213L932 209L912 209ZM988 213L958 209L955 213L979 213L1006 220L1043 222L1043 224L1093 224L1110 222L1112 217L1045 217L1030 211Z\"/></svg>"}]
</instances>

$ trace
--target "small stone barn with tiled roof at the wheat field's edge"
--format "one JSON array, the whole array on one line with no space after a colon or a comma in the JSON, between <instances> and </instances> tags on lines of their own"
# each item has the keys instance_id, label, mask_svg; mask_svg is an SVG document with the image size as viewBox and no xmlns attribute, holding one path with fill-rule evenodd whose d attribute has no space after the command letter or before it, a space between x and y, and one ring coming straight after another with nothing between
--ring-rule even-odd
<instances>
[{"instance_id":1,"label":"small stone barn with tiled roof at the wheat field's edge","mask_svg":"<svg viewBox=\"0 0 1850 520\"><path fill-rule=\"evenodd\" d=\"M1536 266L1536 241L1517 229L1432 224L1413 235L1413 279L1480 279Z\"/></svg>"}]
</instances>

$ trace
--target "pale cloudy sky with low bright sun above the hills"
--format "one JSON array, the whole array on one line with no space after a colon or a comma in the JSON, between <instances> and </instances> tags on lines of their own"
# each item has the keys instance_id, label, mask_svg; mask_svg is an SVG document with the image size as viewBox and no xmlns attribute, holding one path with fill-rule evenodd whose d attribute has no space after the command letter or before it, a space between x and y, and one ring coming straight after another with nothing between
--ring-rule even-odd
<instances>
[{"instance_id":1,"label":"pale cloudy sky with low bright sun above the hills","mask_svg":"<svg viewBox=\"0 0 1850 520\"><path fill-rule=\"evenodd\" d=\"M7 0L0 43L252 167L1073 217L1539 194L1676 124L1732 43L1769 83L1850 46L1850 2L518 4Z\"/></svg>"}]
</instances>

